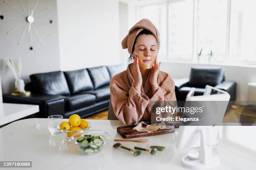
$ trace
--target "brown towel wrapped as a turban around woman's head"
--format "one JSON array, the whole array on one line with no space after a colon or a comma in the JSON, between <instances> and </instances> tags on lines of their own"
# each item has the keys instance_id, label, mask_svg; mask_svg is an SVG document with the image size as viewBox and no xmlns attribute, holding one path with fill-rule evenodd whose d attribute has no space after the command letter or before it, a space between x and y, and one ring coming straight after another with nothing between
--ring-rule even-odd
<instances>
[{"instance_id":1,"label":"brown towel wrapped as a turban around woman's head","mask_svg":"<svg viewBox=\"0 0 256 170\"><path fill-rule=\"evenodd\" d=\"M157 41L157 51L159 51L160 47L160 39L159 39L159 31L155 27L154 24L151 23L148 19L142 19L138 23L136 23L128 32L128 35L125 36L125 38L122 41L122 47L123 49L128 48L128 52L132 53L133 43L138 35L142 30L148 30L154 34Z\"/></svg>"}]
</instances>

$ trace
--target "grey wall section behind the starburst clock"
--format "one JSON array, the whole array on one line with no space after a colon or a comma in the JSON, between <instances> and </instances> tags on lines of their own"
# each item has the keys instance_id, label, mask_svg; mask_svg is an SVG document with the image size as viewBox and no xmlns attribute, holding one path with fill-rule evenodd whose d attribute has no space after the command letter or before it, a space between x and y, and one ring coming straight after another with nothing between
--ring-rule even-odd
<instances>
[{"instance_id":1,"label":"grey wall section behind the starburst clock","mask_svg":"<svg viewBox=\"0 0 256 170\"><path fill-rule=\"evenodd\" d=\"M27 9L26 1L20 2L22 2L25 9ZM31 9L35 1L28 2L30 2ZM20 11L20 13L23 13L17 0L8 0L8 3ZM48 7L48 10L40 13L40 11L44 10L46 7ZM11 70L3 60L6 57L21 57L23 67L21 78L25 80L25 82L30 81L29 75L33 73L60 69L56 0L40 0L38 2L34 11L34 22L44 28L50 36L37 28L41 40L43 41L43 45L41 45L36 33L32 30L33 50L29 50L30 41L27 31L25 32L22 43L18 45L25 25L13 33L7 34L8 31L12 30L20 23L23 23L26 18L16 13L12 8L6 5L3 0L0 1L0 15L4 15L4 19L0 20L0 76L2 79L3 94L14 90L15 81ZM49 20L52 20L53 23L50 24Z\"/></svg>"}]
</instances>

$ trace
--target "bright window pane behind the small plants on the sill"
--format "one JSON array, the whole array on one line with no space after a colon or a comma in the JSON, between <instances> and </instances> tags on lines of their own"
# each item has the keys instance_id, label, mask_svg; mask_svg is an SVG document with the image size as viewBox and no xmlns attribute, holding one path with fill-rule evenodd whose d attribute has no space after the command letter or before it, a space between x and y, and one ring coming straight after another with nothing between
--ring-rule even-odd
<instances>
[{"instance_id":1,"label":"bright window pane behind the small plants on the sill","mask_svg":"<svg viewBox=\"0 0 256 170\"><path fill-rule=\"evenodd\" d=\"M202 57L211 52L224 61L226 53L227 0L197 1L197 52Z\"/></svg>"}]
</instances>

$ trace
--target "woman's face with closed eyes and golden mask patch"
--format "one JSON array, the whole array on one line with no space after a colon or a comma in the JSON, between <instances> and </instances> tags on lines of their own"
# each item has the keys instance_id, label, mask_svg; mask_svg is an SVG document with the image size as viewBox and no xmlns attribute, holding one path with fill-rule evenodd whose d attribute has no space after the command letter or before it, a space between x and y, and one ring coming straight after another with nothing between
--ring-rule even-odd
<instances>
[{"instance_id":1,"label":"woman's face with closed eyes and golden mask patch","mask_svg":"<svg viewBox=\"0 0 256 170\"><path fill-rule=\"evenodd\" d=\"M134 47L133 56L138 54L139 65L145 69L151 68L157 55L157 41L154 35L139 35Z\"/></svg>"}]
</instances>

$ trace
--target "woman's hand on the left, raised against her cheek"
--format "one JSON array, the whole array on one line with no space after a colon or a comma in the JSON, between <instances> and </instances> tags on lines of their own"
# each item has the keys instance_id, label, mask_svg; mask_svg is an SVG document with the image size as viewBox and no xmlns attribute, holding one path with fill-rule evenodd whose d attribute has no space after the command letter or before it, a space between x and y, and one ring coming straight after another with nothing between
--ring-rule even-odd
<instances>
[{"instance_id":1,"label":"woman's hand on the left, raised against her cheek","mask_svg":"<svg viewBox=\"0 0 256 170\"><path fill-rule=\"evenodd\" d=\"M138 57L135 55L133 60L133 69L132 69L134 85L133 87L137 90L138 94L141 95L141 85L142 85L142 76L140 67L138 65Z\"/></svg>"}]
</instances>

